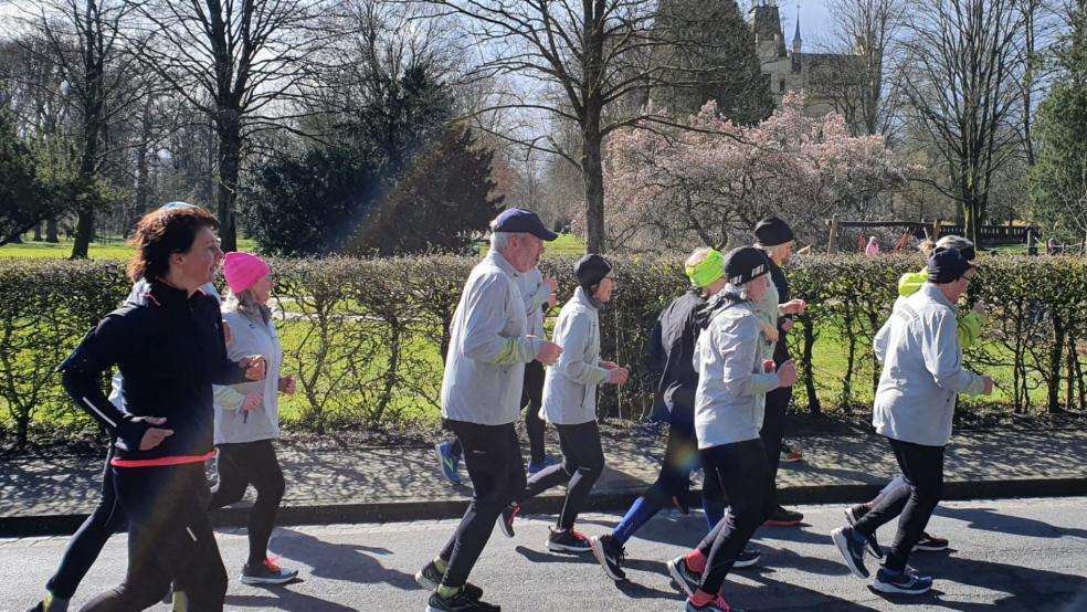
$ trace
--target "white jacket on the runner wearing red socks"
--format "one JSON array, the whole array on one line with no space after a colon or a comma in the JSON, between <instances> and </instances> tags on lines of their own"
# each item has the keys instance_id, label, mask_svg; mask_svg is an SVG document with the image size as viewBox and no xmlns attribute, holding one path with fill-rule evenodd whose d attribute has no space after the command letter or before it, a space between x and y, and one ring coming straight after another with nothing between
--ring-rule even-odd
<instances>
[{"instance_id":1,"label":"white jacket on the runner wearing red socks","mask_svg":"<svg viewBox=\"0 0 1087 612\"><path fill-rule=\"evenodd\" d=\"M738 292L731 286L724 291L730 289ZM778 388L778 374L762 371L772 345L762 336L757 307L750 302L735 303L717 313L698 335L694 365L699 449L754 440L762 430L766 394Z\"/></svg>"}]
</instances>

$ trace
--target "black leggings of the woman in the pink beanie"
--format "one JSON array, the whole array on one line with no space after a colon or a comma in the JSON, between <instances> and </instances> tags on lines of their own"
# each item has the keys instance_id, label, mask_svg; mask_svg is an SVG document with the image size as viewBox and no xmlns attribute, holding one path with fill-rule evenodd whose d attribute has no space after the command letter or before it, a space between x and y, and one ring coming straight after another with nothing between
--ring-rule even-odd
<instances>
[{"instance_id":1,"label":"black leggings of the woman in the pink beanie","mask_svg":"<svg viewBox=\"0 0 1087 612\"><path fill-rule=\"evenodd\" d=\"M219 484L211 489L209 509L222 508L239 502L252 484L256 502L249 516L250 563L267 558L268 539L275 527L275 514L283 499L283 471L271 440L240 444L220 444Z\"/></svg>"}]
</instances>

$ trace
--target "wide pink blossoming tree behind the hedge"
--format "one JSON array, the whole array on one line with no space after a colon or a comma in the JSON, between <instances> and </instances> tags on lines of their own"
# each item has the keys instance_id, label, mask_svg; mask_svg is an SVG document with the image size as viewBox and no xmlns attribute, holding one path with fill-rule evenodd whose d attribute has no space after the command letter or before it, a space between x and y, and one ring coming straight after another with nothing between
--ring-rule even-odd
<instances>
[{"instance_id":1,"label":"wide pink blossoming tree behind the hedge","mask_svg":"<svg viewBox=\"0 0 1087 612\"><path fill-rule=\"evenodd\" d=\"M801 95L756 126L738 126L714 103L689 129L616 133L605 157L604 213L611 249L687 250L747 241L768 214L802 241L822 220L862 213L875 196L905 184L882 136L851 136L836 114L810 117Z\"/></svg>"}]
</instances>

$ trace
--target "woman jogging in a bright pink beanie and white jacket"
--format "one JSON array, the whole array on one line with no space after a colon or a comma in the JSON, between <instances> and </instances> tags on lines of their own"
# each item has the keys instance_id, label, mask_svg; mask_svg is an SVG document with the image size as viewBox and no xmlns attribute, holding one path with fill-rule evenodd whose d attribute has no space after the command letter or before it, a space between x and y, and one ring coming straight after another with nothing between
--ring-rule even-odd
<instances>
[{"instance_id":1,"label":"woman jogging in a bright pink beanie and white jacket","mask_svg":"<svg viewBox=\"0 0 1087 612\"><path fill-rule=\"evenodd\" d=\"M283 499L284 482L273 442L279 436L278 394L293 394L293 377L281 377L283 349L272 320L268 298L271 268L250 253L226 253L223 277L230 294L223 318L231 329L226 352L231 359L263 355L267 376L261 381L215 387L215 458L219 483L211 490L210 509L242 499L252 484L256 502L249 516L249 559L242 567L243 584L282 584L297 570L284 569L268 558L268 539Z\"/></svg>"}]
</instances>

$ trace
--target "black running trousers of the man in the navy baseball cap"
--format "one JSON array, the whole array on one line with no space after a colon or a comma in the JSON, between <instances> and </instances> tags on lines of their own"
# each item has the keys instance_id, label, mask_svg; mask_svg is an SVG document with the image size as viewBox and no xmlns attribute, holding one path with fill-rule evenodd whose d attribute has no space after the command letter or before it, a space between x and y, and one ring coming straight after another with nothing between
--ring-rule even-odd
<instances>
[{"instance_id":1,"label":"black running trousers of the man in the navy baseball cap","mask_svg":"<svg viewBox=\"0 0 1087 612\"><path fill-rule=\"evenodd\" d=\"M481 425L446 421L464 445L464 466L472 478L472 502L456 531L439 555L447 563L442 584L462 587L479 559L495 521L525 489L525 463L513 423Z\"/></svg>"}]
</instances>

